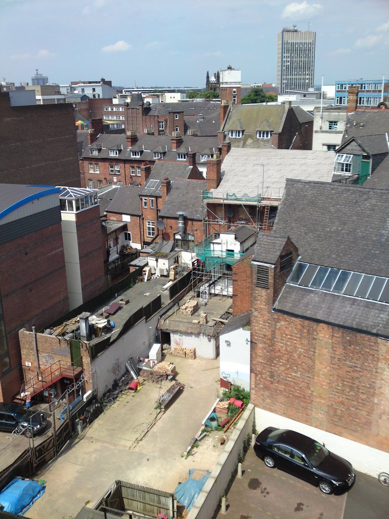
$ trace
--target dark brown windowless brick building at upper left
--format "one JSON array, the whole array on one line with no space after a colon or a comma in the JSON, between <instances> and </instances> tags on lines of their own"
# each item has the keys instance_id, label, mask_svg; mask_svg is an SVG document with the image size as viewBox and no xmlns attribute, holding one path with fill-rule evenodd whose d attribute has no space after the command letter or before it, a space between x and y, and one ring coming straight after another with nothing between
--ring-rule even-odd
<instances>
[{"instance_id":1,"label":"dark brown windowless brick building at upper left","mask_svg":"<svg viewBox=\"0 0 389 519\"><path fill-rule=\"evenodd\" d=\"M80 185L71 104L10 106L0 94L0 181Z\"/></svg>"}]
</instances>

